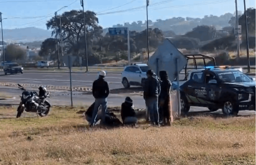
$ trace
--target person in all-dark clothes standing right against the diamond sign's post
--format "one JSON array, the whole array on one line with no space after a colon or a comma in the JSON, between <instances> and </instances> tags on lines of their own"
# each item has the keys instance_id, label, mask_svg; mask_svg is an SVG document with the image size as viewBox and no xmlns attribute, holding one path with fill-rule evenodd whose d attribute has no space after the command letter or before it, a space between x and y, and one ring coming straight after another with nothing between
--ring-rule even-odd
<instances>
[{"instance_id":1,"label":"person in all-dark clothes standing right against the diamond sign's post","mask_svg":"<svg viewBox=\"0 0 256 165\"><path fill-rule=\"evenodd\" d=\"M161 79L161 92L159 95L159 115L162 124L170 124L170 114L169 114L169 91L172 86L171 81L169 81L166 71L160 71L159 76Z\"/></svg>"}]
</instances>

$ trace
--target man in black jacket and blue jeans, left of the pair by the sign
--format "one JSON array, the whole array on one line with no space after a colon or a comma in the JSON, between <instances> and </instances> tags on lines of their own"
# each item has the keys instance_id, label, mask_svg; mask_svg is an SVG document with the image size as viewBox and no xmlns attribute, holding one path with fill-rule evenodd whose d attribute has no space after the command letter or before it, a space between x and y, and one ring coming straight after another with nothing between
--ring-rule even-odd
<instances>
[{"instance_id":1,"label":"man in black jacket and blue jeans, left of the pair by the sign","mask_svg":"<svg viewBox=\"0 0 256 165\"><path fill-rule=\"evenodd\" d=\"M158 95L160 93L159 81L153 76L152 70L147 71L147 79L143 86L143 97L149 112L150 121L159 126Z\"/></svg>"}]
</instances>

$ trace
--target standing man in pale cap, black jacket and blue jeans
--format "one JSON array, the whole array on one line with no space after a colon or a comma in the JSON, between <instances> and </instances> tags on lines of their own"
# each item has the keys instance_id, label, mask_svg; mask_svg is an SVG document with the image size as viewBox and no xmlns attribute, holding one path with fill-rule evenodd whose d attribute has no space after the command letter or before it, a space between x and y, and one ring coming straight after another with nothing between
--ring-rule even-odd
<instances>
[{"instance_id":1,"label":"standing man in pale cap, black jacket and blue jeans","mask_svg":"<svg viewBox=\"0 0 256 165\"><path fill-rule=\"evenodd\" d=\"M105 71L100 71L99 78L95 80L92 84L92 95L95 98L94 110L92 113L91 126L94 126L95 119L97 117L98 108L101 105L102 107L102 116L101 121L105 123L105 113L107 110L107 97L109 95L109 85L107 81L104 80L106 76Z\"/></svg>"}]
</instances>

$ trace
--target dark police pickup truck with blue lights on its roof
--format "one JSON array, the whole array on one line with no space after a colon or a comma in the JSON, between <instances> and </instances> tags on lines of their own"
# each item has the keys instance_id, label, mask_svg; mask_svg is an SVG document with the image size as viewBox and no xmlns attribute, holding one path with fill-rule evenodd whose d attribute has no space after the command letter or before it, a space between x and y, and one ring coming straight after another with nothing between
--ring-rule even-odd
<instances>
[{"instance_id":1,"label":"dark police pickup truck with blue lights on its roof","mask_svg":"<svg viewBox=\"0 0 256 165\"><path fill-rule=\"evenodd\" d=\"M183 114L189 111L190 106L207 107L210 111L222 109L225 115L255 110L255 80L239 69L206 66L192 70L187 80L180 84Z\"/></svg>"}]
</instances>

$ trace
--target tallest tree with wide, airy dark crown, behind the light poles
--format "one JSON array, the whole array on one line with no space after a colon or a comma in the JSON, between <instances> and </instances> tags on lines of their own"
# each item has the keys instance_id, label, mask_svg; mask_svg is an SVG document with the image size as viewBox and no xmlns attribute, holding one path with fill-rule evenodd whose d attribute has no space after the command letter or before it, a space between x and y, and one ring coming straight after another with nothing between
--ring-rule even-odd
<instances>
[{"instance_id":1,"label":"tallest tree with wide, airy dark crown, behind the light poles","mask_svg":"<svg viewBox=\"0 0 256 165\"><path fill-rule=\"evenodd\" d=\"M69 44L72 45L70 52L73 55L78 55L80 46L80 39L84 34L84 21L83 21L83 11L82 10L72 10L64 12L61 15L61 33L63 40L68 40ZM99 20L96 13L93 11L85 12L85 26L87 29L87 40L92 40L94 37L99 36L102 33L102 27L98 25ZM52 36L56 35L55 28L57 27L57 33L60 34L60 19L57 17L52 17L46 23L47 29L52 29Z\"/></svg>"}]
</instances>

